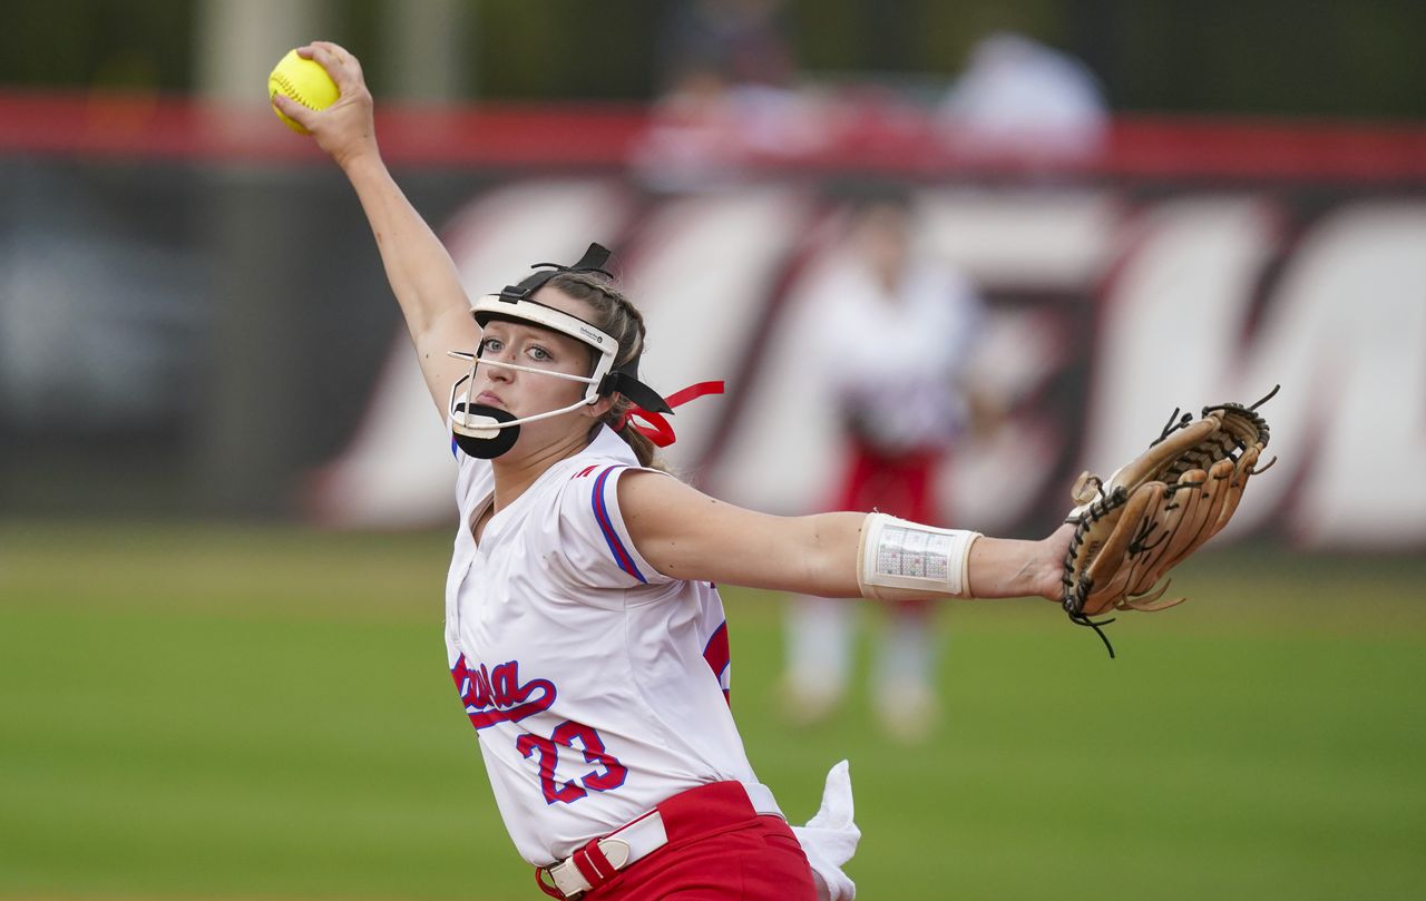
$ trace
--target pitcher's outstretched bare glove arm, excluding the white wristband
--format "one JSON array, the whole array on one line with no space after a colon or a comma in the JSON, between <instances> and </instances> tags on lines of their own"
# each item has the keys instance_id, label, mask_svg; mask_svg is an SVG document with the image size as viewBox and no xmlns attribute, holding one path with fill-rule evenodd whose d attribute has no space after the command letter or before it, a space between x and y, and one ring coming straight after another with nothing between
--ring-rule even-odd
<instances>
[{"instance_id":1,"label":"pitcher's outstretched bare glove arm, excluding the white wristband","mask_svg":"<svg viewBox=\"0 0 1426 901\"><path fill-rule=\"evenodd\" d=\"M674 579L857 597L857 557L866 513L769 516L689 488L677 479L630 472L619 479L619 508L639 553ZM1060 600L1072 526L1038 542L980 537L971 545L968 594ZM886 600L944 592L881 589Z\"/></svg>"}]
</instances>

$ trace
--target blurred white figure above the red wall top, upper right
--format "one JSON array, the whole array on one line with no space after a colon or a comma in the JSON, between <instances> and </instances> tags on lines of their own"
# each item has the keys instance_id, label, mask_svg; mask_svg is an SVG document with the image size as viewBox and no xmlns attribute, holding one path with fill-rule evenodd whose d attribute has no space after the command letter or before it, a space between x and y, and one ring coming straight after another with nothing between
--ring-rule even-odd
<instances>
[{"instance_id":1,"label":"blurred white figure above the red wall top, upper right","mask_svg":"<svg viewBox=\"0 0 1426 901\"><path fill-rule=\"evenodd\" d=\"M947 145L970 157L1062 163L1098 153L1108 134L1099 81L1072 56L997 31L970 53L940 107Z\"/></svg>"}]
</instances>

